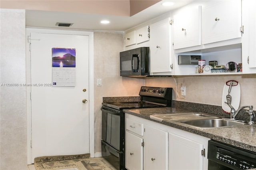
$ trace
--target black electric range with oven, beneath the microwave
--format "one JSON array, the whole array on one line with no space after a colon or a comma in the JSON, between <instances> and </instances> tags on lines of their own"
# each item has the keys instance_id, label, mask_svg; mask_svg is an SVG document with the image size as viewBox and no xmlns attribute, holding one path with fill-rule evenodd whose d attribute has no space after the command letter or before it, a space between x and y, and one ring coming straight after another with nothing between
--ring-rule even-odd
<instances>
[{"instance_id":1,"label":"black electric range with oven, beneath the microwave","mask_svg":"<svg viewBox=\"0 0 256 170\"><path fill-rule=\"evenodd\" d=\"M118 170L125 170L125 127L123 109L171 107L172 88L140 88L140 102L102 103L102 157Z\"/></svg>"}]
</instances>

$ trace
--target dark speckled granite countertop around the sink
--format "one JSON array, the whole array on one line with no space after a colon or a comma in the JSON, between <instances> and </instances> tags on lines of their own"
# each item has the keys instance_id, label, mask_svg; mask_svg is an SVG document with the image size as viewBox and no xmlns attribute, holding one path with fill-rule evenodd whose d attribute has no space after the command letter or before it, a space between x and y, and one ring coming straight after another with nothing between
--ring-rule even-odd
<instances>
[{"instance_id":1,"label":"dark speckled granite countertop around the sink","mask_svg":"<svg viewBox=\"0 0 256 170\"><path fill-rule=\"evenodd\" d=\"M191 111L185 109L178 109L174 107L162 107L162 108L145 108L145 109L126 109L125 113L135 115L150 121L168 125L170 127L178 128L194 134L199 134L207 138L211 138L220 142L224 142L239 148L256 152L256 125L243 125L236 127L224 127L224 128L211 128L200 129L184 125L176 121L156 121L150 119L150 115L153 114L172 114L172 113L191 113Z\"/></svg>"}]
</instances>

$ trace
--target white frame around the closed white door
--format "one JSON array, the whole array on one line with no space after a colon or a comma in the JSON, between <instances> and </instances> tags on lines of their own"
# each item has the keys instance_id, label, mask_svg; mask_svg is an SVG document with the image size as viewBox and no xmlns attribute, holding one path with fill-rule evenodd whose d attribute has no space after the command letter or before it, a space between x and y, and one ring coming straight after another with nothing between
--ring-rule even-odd
<instances>
[{"instance_id":1,"label":"white frame around the closed white door","mask_svg":"<svg viewBox=\"0 0 256 170\"><path fill-rule=\"evenodd\" d=\"M50 30L26 28L26 84L31 84L31 68L30 68L30 43L28 36L30 32L48 33L48 34L69 34L89 36L89 137L90 137L90 156L95 156L94 152L94 33L84 31L70 30ZM32 148L31 148L31 88L26 87L26 107L27 107L27 162L32 164Z\"/></svg>"}]
</instances>

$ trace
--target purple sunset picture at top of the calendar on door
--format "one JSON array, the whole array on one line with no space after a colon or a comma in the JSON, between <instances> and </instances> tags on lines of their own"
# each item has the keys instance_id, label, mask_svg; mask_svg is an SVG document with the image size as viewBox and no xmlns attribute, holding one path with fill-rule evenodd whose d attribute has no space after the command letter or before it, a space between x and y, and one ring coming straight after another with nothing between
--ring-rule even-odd
<instances>
[{"instance_id":1,"label":"purple sunset picture at top of the calendar on door","mask_svg":"<svg viewBox=\"0 0 256 170\"><path fill-rule=\"evenodd\" d=\"M52 48L52 67L76 67L76 49Z\"/></svg>"}]
</instances>

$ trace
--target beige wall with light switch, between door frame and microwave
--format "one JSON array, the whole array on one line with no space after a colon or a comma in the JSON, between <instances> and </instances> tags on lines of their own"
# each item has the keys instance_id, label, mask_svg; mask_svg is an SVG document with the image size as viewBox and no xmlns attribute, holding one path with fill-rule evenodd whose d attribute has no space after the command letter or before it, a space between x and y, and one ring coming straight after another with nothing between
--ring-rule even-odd
<instances>
[{"instance_id":1,"label":"beige wall with light switch, between door frame and microwave","mask_svg":"<svg viewBox=\"0 0 256 170\"><path fill-rule=\"evenodd\" d=\"M138 96L144 85L144 79L120 77L120 51L124 51L123 32L94 32L95 152L101 152L102 97ZM96 86L96 79L102 79L102 86Z\"/></svg>"}]
</instances>

